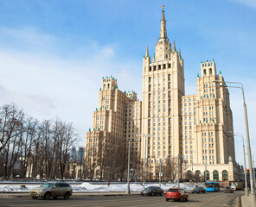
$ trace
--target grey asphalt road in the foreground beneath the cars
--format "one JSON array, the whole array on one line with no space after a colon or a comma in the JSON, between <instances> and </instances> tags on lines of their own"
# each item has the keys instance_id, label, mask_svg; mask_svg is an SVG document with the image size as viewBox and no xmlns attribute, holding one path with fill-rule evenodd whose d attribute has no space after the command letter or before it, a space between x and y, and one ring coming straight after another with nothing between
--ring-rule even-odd
<instances>
[{"instance_id":1,"label":"grey asphalt road in the foreground beneath the cars","mask_svg":"<svg viewBox=\"0 0 256 207\"><path fill-rule=\"evenodd\" d=\"M202 194L189 193L189 201L165 201L164 196L160 197L142 197L140 195L84 195L74 194L69 200L63 198L58 199L37 199L26 197L14 197L14 198L0 198L1 207L21 206L104 206L104 207L116 207L116 206L195 206L195 207L218 207L218 206L240 206L240 196L243 191L235 191L234 193L223 192L208 192Z\"/></svg>"}]
</instances>

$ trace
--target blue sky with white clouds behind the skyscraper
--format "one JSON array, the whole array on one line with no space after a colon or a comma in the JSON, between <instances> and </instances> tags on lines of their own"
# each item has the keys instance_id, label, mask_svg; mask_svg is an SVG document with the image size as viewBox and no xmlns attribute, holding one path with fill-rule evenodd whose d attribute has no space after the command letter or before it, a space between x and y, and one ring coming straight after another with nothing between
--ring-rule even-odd
<instances>
[{"instance_id":1,"label":"blue sky with white clouds behind the skyscraper","mask_svg":"<svg viewBox=\"0 0 256 207\"><path fill-rule=\"evenodd\" d=\"M168 37L182 51L186 94L196 93L202 60L214 59L227 81L244 84L256 156L253 0L0 0L0 104L74 122L83 146L101 77L113 75L120 90L141 99L143 55L147 45L155 51L162 4ZM240 91L230 98L234 132L246 135ZM240 145L238 138L242 163Z\"/></svg>"}]
</instances>

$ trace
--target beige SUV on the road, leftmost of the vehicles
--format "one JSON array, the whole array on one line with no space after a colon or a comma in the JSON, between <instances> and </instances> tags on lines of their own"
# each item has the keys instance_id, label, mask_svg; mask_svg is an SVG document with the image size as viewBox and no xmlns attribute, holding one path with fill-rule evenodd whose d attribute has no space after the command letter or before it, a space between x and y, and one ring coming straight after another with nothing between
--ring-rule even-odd
<instances>
[{"instance_id":1,"label":"beige SUV on the road, leftmost of the vehicles","mask_svg":"<svg viewBox=\"0 0 256 207\"><path fill-rule=\"evenodd\" d=\"M73 188L68 183L63 182L44 183L41 186L33 188L29 191L30 197L33 199L49 199L51 197L63 197L64 199L68 199L70 196L72 196L72 193Z\"/></svg>"}]
</instances>

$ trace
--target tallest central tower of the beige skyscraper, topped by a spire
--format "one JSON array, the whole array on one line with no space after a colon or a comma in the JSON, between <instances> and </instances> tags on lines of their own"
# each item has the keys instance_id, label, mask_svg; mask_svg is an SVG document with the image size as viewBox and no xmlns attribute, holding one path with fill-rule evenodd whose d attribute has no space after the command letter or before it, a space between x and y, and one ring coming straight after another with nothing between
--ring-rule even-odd
<instances>
[{"instance_id":1,"label":"tallest central tower of the beige skyscraper, topped by a spire","mask_svg":"<svg viewBox=\"0 0 256 207\"><path fill-rule=\"evenodd\" d=\"M150 162L152 176L159 159L180 154L181 107L184 95L184 66L175 41L171 49L167 37L164 9L160 37L156 44L156 58L151 61L148 48L143 60L142 132L149 135L147 147L142 141L141 156Z\"/></svg>"}]
</instances>

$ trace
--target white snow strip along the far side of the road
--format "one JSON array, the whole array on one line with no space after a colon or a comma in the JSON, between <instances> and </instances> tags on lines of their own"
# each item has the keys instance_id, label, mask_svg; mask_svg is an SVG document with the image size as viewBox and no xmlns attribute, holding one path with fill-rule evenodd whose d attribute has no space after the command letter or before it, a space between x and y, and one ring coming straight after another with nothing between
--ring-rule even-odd
<instances>
[{"instance_id":1,"label":"white snow strip along the far side of the road","mask_svg":"<svg viewBox=\"0 0 256 207\"><path fill-rule=\"evenodd\" d=\"M4 184L0 183L0 192L29 192L32 188L38 187L41 184ZM73 186L74 192L122 192L126 191L127 184L92 184L89 182L82 183L81 185L73 185L70 183L70 185ZM190 191L192 190L195 185L203 186L202 184L190 184L190 183L181 183L180 187ZM130 184L130 190L131 191L141 191L144 189L144 187L148 186L159 186L159 183L149 183L146 185L140 185L140 184ZM177 187L176 184L162 184L161 187L163 188L163 191L167 191L170 187Z\"/></svg>"}]
</instances>

